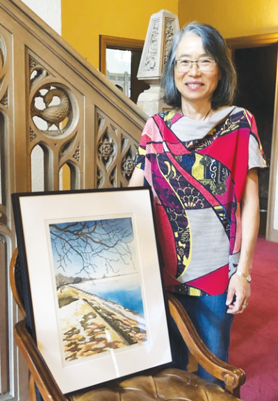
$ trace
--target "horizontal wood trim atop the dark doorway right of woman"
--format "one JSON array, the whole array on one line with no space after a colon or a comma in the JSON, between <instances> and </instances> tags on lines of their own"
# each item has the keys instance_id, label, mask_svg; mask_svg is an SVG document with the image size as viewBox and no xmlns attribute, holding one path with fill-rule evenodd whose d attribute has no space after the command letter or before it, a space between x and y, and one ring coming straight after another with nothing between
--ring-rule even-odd
<instances>
[{"instance_id":1,"label":"horizontal wood trim atop the dark doorway right of woman","mask_svg":"<svg viewBox=\"0 0 278 401\"><path fill-rule=\"evenodd\" d=\"M278 32L253 36L241 36L240 38L228 38L226 39L226 42L230 49L270 46L278 43Z\"/></svg>"}]
</instances>

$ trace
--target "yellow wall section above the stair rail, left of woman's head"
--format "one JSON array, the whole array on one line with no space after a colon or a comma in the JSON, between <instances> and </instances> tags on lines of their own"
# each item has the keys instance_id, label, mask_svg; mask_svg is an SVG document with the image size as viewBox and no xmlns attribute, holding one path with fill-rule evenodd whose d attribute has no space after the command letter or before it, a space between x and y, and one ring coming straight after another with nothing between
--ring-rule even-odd
<instances>
[{"instance_id":1,"label":"yellow wall section above the stair rail, left of woman's head","mask_svg":"<svg viewBox=\"0 0 278 401\"><path fill-rule=\"evenodd\" d=\"M145 40L149 18L178 0L62 0L62 36L99 68L99 35Z\"/></svg>"}]
</instances>

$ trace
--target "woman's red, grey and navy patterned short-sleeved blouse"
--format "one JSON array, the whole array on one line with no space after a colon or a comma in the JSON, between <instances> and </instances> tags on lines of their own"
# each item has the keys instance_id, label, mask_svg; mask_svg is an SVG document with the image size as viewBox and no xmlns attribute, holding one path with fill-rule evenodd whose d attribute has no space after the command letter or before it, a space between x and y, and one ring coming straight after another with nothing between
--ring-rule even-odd
<instances>
[{"instance_id":1,"label":"woman's red, grey and navy patterned short-sleeved blouse","mask_svg":"<svg viewBox=\"0 0 278 401\"><path fill-rule=\"evenodd\" d=\"M208 121L156 114L147 120L135 164L154 194L166 289L227 291L240 257L247 172L266 167L252 114L238 107Z\"/></svg>"}]
</instances>

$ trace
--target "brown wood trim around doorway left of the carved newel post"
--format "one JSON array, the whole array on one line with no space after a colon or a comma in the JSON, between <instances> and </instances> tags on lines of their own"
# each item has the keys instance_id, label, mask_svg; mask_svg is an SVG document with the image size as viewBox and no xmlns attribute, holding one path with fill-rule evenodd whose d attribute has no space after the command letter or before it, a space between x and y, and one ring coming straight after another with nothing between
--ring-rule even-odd
<instances>
[{"instance_id":1,"label":"brown wood trim around doorway left of the carved newel post","mask_svg":"<svg viewBox=\"0 0 278 401\"><path fill-rule=\"evenodd\" d=\"M141 50L144 40L99 35L99 71L106 75L106 49Z\"/></svg>"}]
</instances>

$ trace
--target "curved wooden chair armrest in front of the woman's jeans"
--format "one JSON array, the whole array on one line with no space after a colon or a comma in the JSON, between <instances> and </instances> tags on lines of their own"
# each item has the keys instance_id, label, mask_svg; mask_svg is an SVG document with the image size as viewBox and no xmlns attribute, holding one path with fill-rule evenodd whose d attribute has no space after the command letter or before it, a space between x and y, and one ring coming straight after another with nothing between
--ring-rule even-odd
<instances>
[{"instance_id":1,"label":"curved wooden chair armrest in front of the woman's jeans","mask_svg":"<svg viewBox=\"0 0 278 401\"><path fill-rule=\"evenodd\" d=\"M167 292L167 299L174 322L176 322L183 340L196 361L211 375L223 380L226 391L240 398L240 386L245 383L246 378L244 370L235 368L213 355L206 345L204 345L188 313L177 298Z\"/></svg>"}]
</instances>

